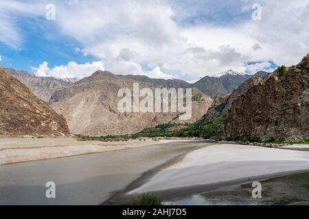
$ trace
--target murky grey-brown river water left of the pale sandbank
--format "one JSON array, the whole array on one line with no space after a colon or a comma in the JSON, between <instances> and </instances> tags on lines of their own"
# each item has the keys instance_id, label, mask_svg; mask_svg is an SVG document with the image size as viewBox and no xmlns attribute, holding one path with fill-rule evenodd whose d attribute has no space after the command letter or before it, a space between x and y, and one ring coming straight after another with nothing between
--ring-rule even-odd
<instances>
[{"instance_id":1,"label":"murky grey-brown river water left of the pale sandbank","mask_svg":"<svg viewBox=\"0 0 309 219\"><path fill-rule=\"evenodd\" d=\"M207 144L174 142L137 149L0 166L0 205L98 205L169 159ZM56 183L56 198L45 185Z\"/></svg>"}]
</instances>

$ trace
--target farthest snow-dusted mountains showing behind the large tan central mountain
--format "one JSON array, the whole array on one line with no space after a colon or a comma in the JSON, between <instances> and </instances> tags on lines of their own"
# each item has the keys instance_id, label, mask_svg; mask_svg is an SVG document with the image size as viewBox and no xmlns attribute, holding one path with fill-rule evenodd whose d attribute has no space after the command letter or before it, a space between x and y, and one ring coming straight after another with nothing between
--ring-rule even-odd
<instances>
[{"instance_id":1,"label":"farthest snow-dusted mountains showing behind the large tan central mountain","mask_svg":"<svg viewBox=\"0 0 309 219\"><path fill-rule=\"evenodd\" d=\"M39 96L43 101L48 102L52 97L52 94L57 90L67 88L72 83L79 81L78 78L73 79L58 79L55 77L37 77L31 75L23 70L14 70L12 68L5 68L5 70L12 76L19 79L25 84L34 94ZM267 73L260 71L255 75L264 76ZM228 70L224 73L219 73L214 77L203 77L196 81L196 83L187 83L180 79L152 79L144 75L117 75L124 79L133 79L135 81L152 83L157 87L167 88L198 88L204 94L211 96L212 99L216 99L222 95L232 92L235 88L238 88L240 84L247 81L252 75L244 73L238 73L234 70Z\"/></svg>"}]
</instances>

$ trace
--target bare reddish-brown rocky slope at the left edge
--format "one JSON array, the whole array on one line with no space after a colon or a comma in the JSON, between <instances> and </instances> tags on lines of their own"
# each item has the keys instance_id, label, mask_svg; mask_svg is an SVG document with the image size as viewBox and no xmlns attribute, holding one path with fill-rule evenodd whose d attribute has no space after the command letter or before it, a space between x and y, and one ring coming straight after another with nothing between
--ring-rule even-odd
<instances>
[{"instance_id":1,"label":"bare reddish-brown rocky slope at the left edge","mask_svg":"<svg viewBox=\"0 0 309 219\"><path fill-rule=\"evenodd\" d=\"M0 135L65 136L65 118L0 68Z\"/></svg>"}]
</instances>

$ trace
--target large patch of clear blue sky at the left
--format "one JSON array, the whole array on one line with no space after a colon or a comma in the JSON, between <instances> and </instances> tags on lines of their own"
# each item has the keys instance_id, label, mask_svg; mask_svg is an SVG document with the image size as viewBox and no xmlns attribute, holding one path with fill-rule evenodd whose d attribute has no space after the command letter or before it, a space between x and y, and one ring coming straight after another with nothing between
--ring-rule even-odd
<instances>
[{"instance_id":1,"label":"large patch of clear blue sky at the left","mask_svg":"<svg viewBox=\"0 0 309 219\"><path fill-rule=\"evenodd\" d=\"M17 16L15 23L23 36L23 42L16 48L0 42L3 66L33 73L31 66L38 66L46 60L50 66L60 66L71 61L84 63L99 60L93 55L76 53L75 48L80 43L61 34L55 23L45 18Z\"/></svg>"}]
</instances>

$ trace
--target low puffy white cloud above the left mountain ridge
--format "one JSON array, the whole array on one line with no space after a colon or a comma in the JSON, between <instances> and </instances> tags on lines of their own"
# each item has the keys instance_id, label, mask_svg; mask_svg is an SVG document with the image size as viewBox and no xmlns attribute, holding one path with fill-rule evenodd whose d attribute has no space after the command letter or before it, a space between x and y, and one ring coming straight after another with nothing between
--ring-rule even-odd
<instances>
[{"instance_id":1,"label":"low puffy white cloud above the left mountain ridge","mask_svg":"<svg viewBox=\"0 0 309 219\"><path fill-rule=\"evenodd\" d=\"M47 62L43 62L36 67L32 67L35 75L41 77L58 77L58 78L73 78L73 77L87 77L92 75L96 70L104 70L102 62L92 62L85 64L77 64L76 62L69 62L66 66L54 66L49 68Z\"/></svg>"}]
</instances>

